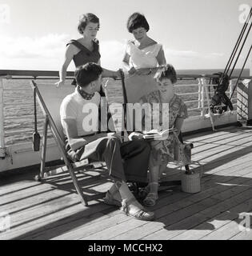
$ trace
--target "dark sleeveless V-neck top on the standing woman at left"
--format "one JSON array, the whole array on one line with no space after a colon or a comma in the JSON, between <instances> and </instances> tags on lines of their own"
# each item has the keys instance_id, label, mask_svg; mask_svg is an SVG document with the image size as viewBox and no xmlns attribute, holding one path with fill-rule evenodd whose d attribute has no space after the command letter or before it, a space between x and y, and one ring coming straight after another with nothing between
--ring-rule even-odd
<instances>
[{"instance_id":1,"label":"dark sleeveless V-neck top on the standing woman at left","mask_svg":"<svg viewBox=\"0 0 252 256\"><path fill-rule=\"evenodd\" d=\"M70 40L70 42L66 44L66 46L73 44L80 50L78 52L78 54L74 55L74 58L73 58L74 64L76 67L82 66L82 65L86 64L87 62L98 63L99 59L101 58L101 54L99 53L98 40L95 40L93 42L94 42L94 50L93 51L88 50L85 46L83 46L77 40Z\"/></svg>"}]
</instances>

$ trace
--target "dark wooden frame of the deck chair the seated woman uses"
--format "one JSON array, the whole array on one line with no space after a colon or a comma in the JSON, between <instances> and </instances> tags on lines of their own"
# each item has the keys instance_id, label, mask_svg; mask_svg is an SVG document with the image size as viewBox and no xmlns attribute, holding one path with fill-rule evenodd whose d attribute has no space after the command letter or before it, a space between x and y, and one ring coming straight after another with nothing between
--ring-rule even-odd
<instances>
[{"instance_id":1,"label":"dark wooden frame of the deck chair the seated woman uses","mask_svg":"<svg viewBox=\"0 0 252 256\"><path fill-rule=\"evenodd\" d=\"M126 84L125 84L125 74L122 72L122 70L120 70L120 74L121 74L121 79L122 79L122 95L123 95L123 111L124 111L124 117L126 117L126 104L128 102L128 97L127 97L127 91L126 91ZM126 118L124 118L124 126L126 127ZM178 139L180 142L183 143L183 139L182 139L182 132L180 132L178 134ZM191 147L193 148L194 145L193 143L191 143ZM186 171L190 171L190 167L189 165L184 166ZM160 186L176 186L176 185L181 185L181 180L172 180L172 181L163 181L159 183Z\"/></svg>"}]
</instances>

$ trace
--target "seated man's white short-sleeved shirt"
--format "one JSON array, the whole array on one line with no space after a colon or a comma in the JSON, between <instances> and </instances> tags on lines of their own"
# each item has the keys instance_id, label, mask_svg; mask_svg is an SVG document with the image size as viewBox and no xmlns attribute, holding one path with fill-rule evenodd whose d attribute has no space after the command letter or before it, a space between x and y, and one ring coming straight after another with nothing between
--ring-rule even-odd
<instances>
[{"instance_id":1,"label":"seated man's white short-sleeved shirt","mask_svg":"<svg viewBox=\"0 0 252 256\"><path fill-rule=\"evenodd\" d=\"M74 119L77 124L78 136L94 134L97 130L90 130L90 127L98 128L98 106L101 96L98 92L94 93L93 98L86 100L78 93L77 88L73 94L69 94L62 100L60 106L61 122L64 119ZM96 110L95 110L96 108ZM64 134L66 130L62 122Z\"/></svg>"}]
</instances>

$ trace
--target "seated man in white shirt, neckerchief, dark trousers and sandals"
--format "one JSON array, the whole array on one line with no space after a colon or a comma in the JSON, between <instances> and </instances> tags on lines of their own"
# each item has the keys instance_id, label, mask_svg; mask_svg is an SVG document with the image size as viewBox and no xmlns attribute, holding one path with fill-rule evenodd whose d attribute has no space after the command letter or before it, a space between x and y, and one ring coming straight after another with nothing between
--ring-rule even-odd
<instances>
[{"instance_id":1,"label":"seated man in white shirt, neckerchief, dark trousers and sandals","mask_svg":"<svg viewBox=\"0 0 252 256\"><path fill-rule=\"evenodd\" d=\"M100 105L102 68L95 63L86 63L75 71L77 87L73 94L63 99L60 108L61 122L66 134L66 151L72 161L80 161L84 158L105 161L110 177L114 179L114 185L106 194L107 203L121 206L121 210L131 217L152 220L154 213L144 210L142 205L130 192L126 181L127 171L122 161L122 152L127 154L126 147L133 146L138 154L139 161L135 165L139 167L145 163L142 156L149 158L150 146L144 141L124 142L115 133L98 133L90 129L90 112L92 127L98 127L98 110ZM90 111L91 110L91 111ZM135 156L134 156L135 157ZM125 160L126 161L126 160ZM132 166L132 165L131 165Z\"/></svg>"}]
</instances>

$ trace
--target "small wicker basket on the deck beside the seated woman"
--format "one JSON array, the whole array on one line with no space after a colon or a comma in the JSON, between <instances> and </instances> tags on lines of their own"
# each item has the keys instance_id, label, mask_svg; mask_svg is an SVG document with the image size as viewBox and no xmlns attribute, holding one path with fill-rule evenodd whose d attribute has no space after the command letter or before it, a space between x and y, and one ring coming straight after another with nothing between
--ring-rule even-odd
<instances>
[{"instance_id":1,"label":"small wicker basket on the deck beside the seated woman","mask_svg":"<svg viewBox=\"0 0 252 256\"><path fill-rule=\"evenodd\" d=\"M182 191L186 193L198 193L201 190L200 173L182 174L181 187Z\"/></svg>"}]
</instances>

